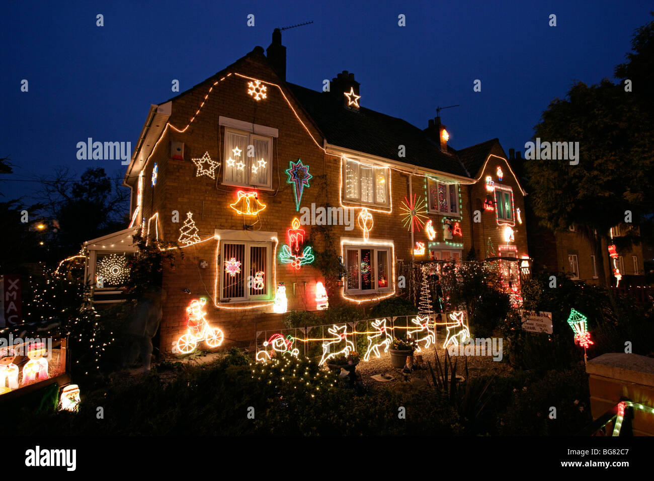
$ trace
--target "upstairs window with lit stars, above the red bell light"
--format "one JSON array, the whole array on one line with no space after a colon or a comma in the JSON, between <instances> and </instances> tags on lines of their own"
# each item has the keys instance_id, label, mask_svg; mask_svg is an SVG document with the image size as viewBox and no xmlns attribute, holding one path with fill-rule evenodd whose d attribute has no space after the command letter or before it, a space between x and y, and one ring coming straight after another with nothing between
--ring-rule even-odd
<instances>
[{"instance_id":1,"label":"upstairs window with lit stars, above the red bell light","mask_svg":"<svg viewBox=\"0 0 654 481\"><path fill-rule=\"evenodd\" d=\"M271 137L226 128L222 183L270 188L272 145Z\"/></svg>"}]
</instances>

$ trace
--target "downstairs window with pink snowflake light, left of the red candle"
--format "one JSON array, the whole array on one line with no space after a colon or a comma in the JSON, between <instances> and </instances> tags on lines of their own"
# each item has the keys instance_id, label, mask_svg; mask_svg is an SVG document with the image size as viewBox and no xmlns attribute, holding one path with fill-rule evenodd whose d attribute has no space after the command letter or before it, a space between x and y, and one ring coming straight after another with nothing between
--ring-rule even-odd
<instances>
[{"instance_id":1,"label":"downstairs window with pink snowflake light, left of the red candle","mask_svg":"<svg viewBox=\"0 0 654 481\"><path fill-rule=\"evenodd\" d=\"M221 302L270 298L271 243L224 241L220 255Z\"/></svg>"}]
</instances>

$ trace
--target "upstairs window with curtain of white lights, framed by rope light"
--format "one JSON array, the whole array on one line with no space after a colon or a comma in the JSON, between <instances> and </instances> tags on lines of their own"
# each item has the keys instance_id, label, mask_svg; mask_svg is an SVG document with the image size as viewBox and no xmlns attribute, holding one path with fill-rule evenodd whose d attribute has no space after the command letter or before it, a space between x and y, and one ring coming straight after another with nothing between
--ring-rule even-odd
<instances>
[{"instance_id":1,"label":"upstairs window with curtain of white lights, framed by rope light","mask_svg":"<svg viewBox=\"0 0 654 481\"><path fill-rule=\"evenodd\" d=\"M345 200L361 204L388 204L388 169L345 160Z\"/></svg>"}]
</instances>

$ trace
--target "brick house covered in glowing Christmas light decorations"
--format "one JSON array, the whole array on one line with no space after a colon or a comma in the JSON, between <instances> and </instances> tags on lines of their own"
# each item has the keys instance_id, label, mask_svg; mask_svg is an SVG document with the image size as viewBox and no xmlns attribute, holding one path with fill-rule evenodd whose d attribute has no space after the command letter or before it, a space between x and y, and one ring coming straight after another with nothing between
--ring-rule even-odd
<instances>
[{"instance_id":1,"label":"brick house covered in glowing Christmas light decorations","mask_svg":"<svg viewBox=\"0 0 654 481\"><path fill-rule=\"evenodd\" d=\"M120 283L124 263L105 258L135 232L184 253L163 272L163 350L190 319L211 345L205 321L249 342L289 310L370 306L402 294L400 266L429 260L502 258L517 291L526 192L499 141L456 151L438 116L422 129L366 109L352 73L323 85L286 80L276 29L266 52L152 105L124 179L131 223L87 245L95 298ZM315 266L328 249L347 273L334 285Z\"/></svg>"}]
</instances>

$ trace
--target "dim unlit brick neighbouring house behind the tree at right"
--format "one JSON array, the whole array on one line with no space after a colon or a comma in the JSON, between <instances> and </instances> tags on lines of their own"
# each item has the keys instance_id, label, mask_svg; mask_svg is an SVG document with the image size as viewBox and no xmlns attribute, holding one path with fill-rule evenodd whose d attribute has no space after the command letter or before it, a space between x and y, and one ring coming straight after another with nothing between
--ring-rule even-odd
<instances>
[{"instance_id":1,"label":"dim unlit brick neighbouring house behind the tree at right","mask_svg":"<svg viewBox=\"0 0 654 481\"><path fill-rule=\"evenodd\" d=\"M509 149L509 162L520 176L523 171L524 159L520 152ZM522 179L523 182L524 179ZM613 268L620 272L619 285L645 285L645 267L643 245L621 243L619 238L632 228L628 224L619 224L611 229L609 237L615 238L617 245L615 262L610 257L608 243L602 241L602 262L598 262L597 253L591 242L583 235L578 225L571 225L564 232L554 232L540 225L540 220L534 214L530 205L526 205L528 221L527 237L530 255L534 262L534 271L548 270L551 272L566 272L577 281L589 284L615 286L617 278L613 276ZM603 269L602 269L603 268Z\"/></svg>"}]
</instances>

